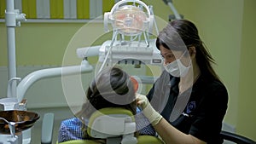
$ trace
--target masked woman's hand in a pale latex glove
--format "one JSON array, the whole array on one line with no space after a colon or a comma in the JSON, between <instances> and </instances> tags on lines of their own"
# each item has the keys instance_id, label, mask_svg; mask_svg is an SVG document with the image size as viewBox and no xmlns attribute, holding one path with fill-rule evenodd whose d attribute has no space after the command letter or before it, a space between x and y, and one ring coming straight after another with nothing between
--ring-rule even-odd
<instances>
[{"instance_id":1,"label":"masked woman's hand in a pale latex glove","mask_svg":"<svg viewBox=\"0 0 256 144\"><path fill-rule=\"evenodd\" d=\"M159 112L156 112L150 105L148 98L145 95L136 94L137 106L143 108L143 114L148 118L149 122L154 126L163 118Z\"/></svg>"}]
</instances>

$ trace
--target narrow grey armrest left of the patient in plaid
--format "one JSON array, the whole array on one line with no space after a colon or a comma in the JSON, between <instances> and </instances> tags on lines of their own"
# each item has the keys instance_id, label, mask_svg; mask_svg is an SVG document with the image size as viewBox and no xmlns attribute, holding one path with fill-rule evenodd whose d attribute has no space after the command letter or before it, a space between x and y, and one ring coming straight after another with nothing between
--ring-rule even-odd
<instances>
[{"instance_id":1,"label":"narrow grey armrest left of the patient in plaid","mask_svg":"<svg viewBox=\"0 0 256 144\"><path fill-rule=\"evenodd\" d=\"M54 113L45 113L42 123L41 144L51 144L54 130Z\"/></svg>"}]
</instances>

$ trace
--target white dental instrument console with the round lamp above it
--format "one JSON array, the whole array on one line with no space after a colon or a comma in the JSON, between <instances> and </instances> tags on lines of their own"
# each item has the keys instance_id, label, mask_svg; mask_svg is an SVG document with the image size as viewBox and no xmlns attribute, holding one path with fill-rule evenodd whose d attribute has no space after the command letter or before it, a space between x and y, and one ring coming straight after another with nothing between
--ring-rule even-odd
<instances>
[{"instance_id":1,"label":"white dental instrument console with the round lamp above it","mask_svg":"<svg viewBox=\"0 0 256 144\"><path fill-rule=\"evenodd\" d=\"M79 48L77 55L85 58L98 54L98 61L102 63L99 72L104 66L121 63L135 67L141 64L160 65L160 51L155 47L155 39L150 39L154 22L152 6L140 0L119 1L104 14L105 32L110 32L108 24L113 28L111 40L101 46Z\"/></svg>"}]
</instances>

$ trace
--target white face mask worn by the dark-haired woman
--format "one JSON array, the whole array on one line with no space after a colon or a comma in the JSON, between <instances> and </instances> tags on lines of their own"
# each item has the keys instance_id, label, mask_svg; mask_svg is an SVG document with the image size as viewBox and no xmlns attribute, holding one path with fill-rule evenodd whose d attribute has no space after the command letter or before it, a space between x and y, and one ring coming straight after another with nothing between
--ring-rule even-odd
<instances>
[{"instance_id":1,"label":"white face mask worn by the dark-haired woman","mask_svg":"<svg viewBox=\"0 0 256 144\"><path fill-rule=\"evenodd\" d=\"M184 54L185 53L183 53L183 55ZM180 58L182 58L183 55ZM166 71L169 72L173 77L184 77L189 72L189 68L191 67L191 60L189 61L189 66L184 66L180 58L167 65L164 65Z\"/></svg>"}]
</instances>

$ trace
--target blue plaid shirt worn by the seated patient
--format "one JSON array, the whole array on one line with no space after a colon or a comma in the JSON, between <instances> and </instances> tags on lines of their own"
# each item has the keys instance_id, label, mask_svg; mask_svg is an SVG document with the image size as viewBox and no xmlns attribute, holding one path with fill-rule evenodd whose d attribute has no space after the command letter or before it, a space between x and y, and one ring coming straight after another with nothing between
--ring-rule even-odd
<instances>
[{"instance_id":1,"label":"blue plaid shirt worn by the seated patient","mask_svg":"<svg viewBox=\"0 0 256 144\"><path fill-rule=\"evenodd\" d=\"M156 135L154 128L149 124L148 119L145 118L137 108L137 115L135 116L137 131L140 135ZM88 120L85 120L88 124ZM81 130L83 123L79 118L69 118L61 122L61 127L58 135L58 142L83 140L83 131Z\"/></svg>"}]
</instances>

